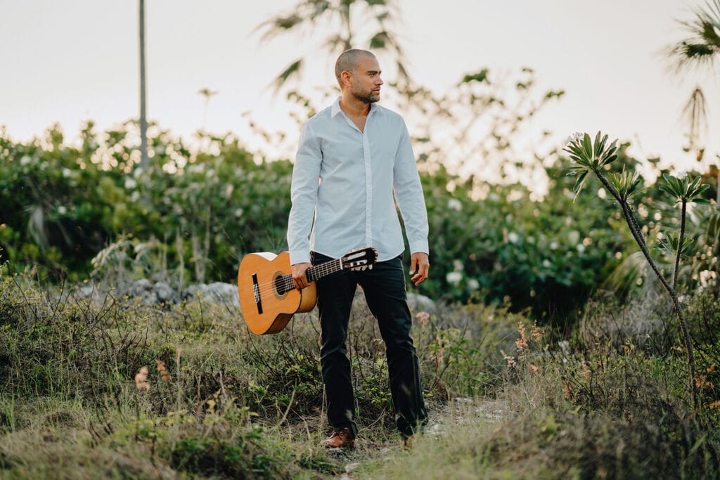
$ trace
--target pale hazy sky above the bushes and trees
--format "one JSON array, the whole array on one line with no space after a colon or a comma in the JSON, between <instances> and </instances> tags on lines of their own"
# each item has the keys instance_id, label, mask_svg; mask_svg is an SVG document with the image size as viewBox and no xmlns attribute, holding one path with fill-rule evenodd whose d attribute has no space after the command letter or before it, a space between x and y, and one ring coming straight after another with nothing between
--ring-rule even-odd
<instances>
[{"instance_id":1,"label":"pale hazy sky above the bushes and trees","mask_svg":"<svg viewBox=\"0 0 720 480\"><path fill-rule=\"evenodd\" d=\"M297 137L287 101L266 87L320 36L261 44L253 29L297 0L146 0L148 117L192 138L202 127L247 135L242 112ZM566 95L534 120L560 144L577 130L629 140L640 158L689 165L680 111L700 82L710 129L720 131L720 82L672 76L664 47L683 37L701 0L399 0L397 33L416 81L444 91L464 73L534 68L538 92ZM323 25L316 27L325 34ZM60 122L75 138L84 119L100 129L138 116L138 1L0 0L0 125L15 140ZM323 35L324 36L324 35ZM304 91L334 85L334 58L306 71ZM393 81L387 78L385 81ZM402 112L401 112L402 113ZM408 122L410 127L412 123ZM717 137L715 135L715 137ZM708 161L717 161L717 138Z\"/></svg>"}]
</instances>

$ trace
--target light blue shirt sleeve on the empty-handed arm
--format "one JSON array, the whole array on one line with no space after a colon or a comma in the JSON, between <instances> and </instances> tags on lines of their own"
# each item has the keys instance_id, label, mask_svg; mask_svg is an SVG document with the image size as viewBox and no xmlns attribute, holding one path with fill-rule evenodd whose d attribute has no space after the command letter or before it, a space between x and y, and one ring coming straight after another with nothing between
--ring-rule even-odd
<instances>
[{"instance_id":1,"label":"light blue shirt sleeve on the empty-handed arm","mask_svg":"<svg viewBox=\"0 0 720 480\"><path fill-rule=\"evenodd\" d=\"M402 122L400 144L395 153L393 187L395 200L400 207L405 234L408 235L410 253L430 253L428 245L428 212L425 207L423 186L420 184L418 166L415 163L413 145L405 122Z\"/></svg>"}]
</instances>

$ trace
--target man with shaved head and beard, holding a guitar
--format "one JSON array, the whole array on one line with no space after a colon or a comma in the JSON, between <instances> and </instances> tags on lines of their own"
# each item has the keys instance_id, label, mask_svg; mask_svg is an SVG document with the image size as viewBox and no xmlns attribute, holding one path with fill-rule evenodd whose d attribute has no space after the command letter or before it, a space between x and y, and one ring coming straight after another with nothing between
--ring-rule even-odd
<instances>
[{"instance_id":1,"label":"man with shaved head and beard, holding a guitar","mask_svg":"<svg viewBox=\"0 0 720 480\"><path fill-rule=\"evenodd\" d=\"M366 246L378 252L371 270L343 270L317 282L320 366L334 429L325 440L328 448L351 448L357 435L346 337L358 284L385 343L404 443L427 422L410 337L405 245L395 201L405 222L415 285L428 278L428 219L408 128L400 115L375 103L383 83L380 73L377 58L366 50L340 55L335 75L341 96L303 125L292 172L287 242L297 289L308 285L310 262L323 263Z\"/></svg>"}]
</instances>

